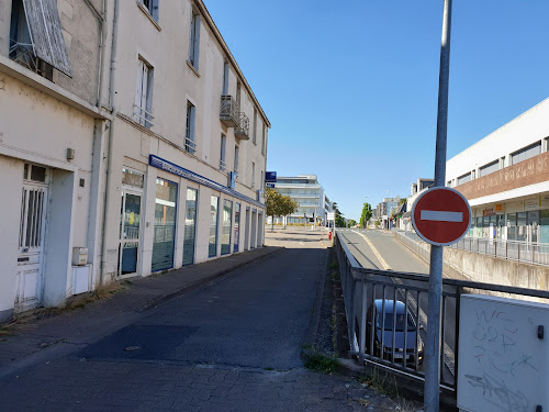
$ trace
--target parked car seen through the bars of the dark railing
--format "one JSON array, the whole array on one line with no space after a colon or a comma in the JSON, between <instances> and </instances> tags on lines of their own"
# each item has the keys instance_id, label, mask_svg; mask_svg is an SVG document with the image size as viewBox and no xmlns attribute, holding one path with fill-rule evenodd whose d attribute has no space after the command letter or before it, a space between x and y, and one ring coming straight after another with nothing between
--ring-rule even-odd
<instances>
[{"instance_id":1,"label":"parked car seen through the bars of the dark railing","mask_svg":"<svg viewBox=\"0 0 549 412\"><path fill-rule=\"evenodd\" d=\"M395 313L393 314L393 309ZM414 318L406 311L406 307L401 301L385 299L384 322L383 322L383 299L377 299L368 309L366 327L366 347L370 348L372 336L372 312L376 323L376 333L373 333L373 355L383 359L392 359L393 354L393 329L394 329L394 360L403 361L406 356L406 364L414 364L417 345L417 361L423 361L424 345L418 336L419 330ZM396 319L395 319L396 316ZM383 324L383 325L382 325ZM381 341L383 337L383 354L381 354ZM405 338L404 338L405 337ZM404 350L404 341L406 348Z\"/></svg>"}]
</instances>

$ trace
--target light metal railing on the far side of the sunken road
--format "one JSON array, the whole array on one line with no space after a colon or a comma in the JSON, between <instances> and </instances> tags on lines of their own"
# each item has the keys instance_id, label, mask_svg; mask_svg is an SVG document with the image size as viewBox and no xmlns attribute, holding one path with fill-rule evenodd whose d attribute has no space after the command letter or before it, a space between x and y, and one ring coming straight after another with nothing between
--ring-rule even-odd
<instances>
[{"instance_id":1,"label":"light metal railing on the far side of the sunken road","mask_svg":"<svg viewBox=\"0 0 549 412\"><path fill-rule=\"evenodd\" d=\"M418 255L425 257L425 252L430 250L429 245L417 233L402 231L395 233ZM525 264L549 266L549 244L546 243L466 236L450 247Z\"/></svg>"}]
</instances>

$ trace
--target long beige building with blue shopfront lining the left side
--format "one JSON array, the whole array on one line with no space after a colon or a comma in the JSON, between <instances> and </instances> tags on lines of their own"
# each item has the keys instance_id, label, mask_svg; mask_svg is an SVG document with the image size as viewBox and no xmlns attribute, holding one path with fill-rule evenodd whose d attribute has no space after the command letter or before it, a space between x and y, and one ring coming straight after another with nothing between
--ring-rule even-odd
<instances>
[{"instance_id":1,"label":"long beige building with blue shopfront lining the left side","mask_svg":"<svg viewBox=\"0 0 549 412\"><path fill-rule=\"evenodd\" d=\"M0 320L261 246L269 127L201 0L0 2Z\"/></svg>"}]
</instances>

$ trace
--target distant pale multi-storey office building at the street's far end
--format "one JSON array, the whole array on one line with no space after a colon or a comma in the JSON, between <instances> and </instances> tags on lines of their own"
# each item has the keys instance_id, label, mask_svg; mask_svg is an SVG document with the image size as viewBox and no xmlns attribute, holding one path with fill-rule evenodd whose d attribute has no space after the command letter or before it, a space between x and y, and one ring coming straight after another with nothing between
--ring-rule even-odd
<instances>
[{"instance_id":1,"label":"distant pale multi-storey office building at the street's far end","mask_svg":"<svg viewBox=\"0 0 549 412\"><path fill-rule=\"evenodd\" d=\"M296 177L278 177L274 190L289 196L298 202L298 210L287 216L288 224L313 223L326 224L326 214L333 210L332 201L324 194L324 188L316 175L299 175ZM274 223L283 223L276 218Z\"/></svg>"}]
</instances>

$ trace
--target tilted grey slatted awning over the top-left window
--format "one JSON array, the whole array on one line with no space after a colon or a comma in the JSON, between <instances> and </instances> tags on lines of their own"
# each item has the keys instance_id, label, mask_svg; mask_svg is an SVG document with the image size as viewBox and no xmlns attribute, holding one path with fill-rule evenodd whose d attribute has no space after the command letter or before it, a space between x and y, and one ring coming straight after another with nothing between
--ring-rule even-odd
<instances>
[{"instance_id":1,"label":"tilted grey slatted awning over the top-left window","mask_svg":"<svg viewBox=\"0 0 549 412\"><path fill-rule=\"evenodd\" d=\"M67 76L70 65L57 11L57 0L23 0L34 54Z\"/></svg>"}]
</instances>

